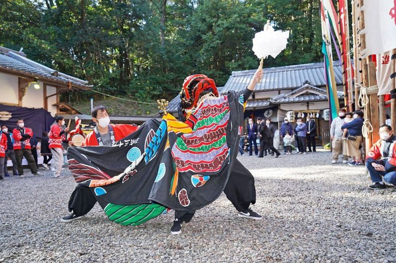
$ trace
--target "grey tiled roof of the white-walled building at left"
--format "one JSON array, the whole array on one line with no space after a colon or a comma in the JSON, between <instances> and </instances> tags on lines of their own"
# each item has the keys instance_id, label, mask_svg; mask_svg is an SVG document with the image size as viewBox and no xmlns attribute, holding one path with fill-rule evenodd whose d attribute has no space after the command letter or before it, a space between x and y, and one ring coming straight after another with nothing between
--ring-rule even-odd
<instances>
[{"instance_id":1,"label":"grey tiled roof of the white-walled building at left","mask_svg":"<svg viewBox=\"0 0 396 263\"><path fill-rule=\"evenodd\" d=\"M14 52L0 53L0 69L10 70L15 73L33 75L37 78L49 79L55 82L68 84L83 89L90 89L92 85L88 85L88 81L73 76L62 74L44 65L34 62L26 57L18 55Z\"/></svg>"}]
</instances>

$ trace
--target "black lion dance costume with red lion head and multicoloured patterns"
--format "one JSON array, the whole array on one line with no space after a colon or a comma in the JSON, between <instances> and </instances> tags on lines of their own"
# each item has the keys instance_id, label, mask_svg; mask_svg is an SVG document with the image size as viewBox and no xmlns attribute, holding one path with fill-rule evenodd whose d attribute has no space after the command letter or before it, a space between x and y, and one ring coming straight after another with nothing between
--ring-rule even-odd
<instances>
[{"instance_id":1,"label":"black lion dance costume with red lion head and multicoloured patterns","mask_svg":"<svg viewBox=\"0 0 396 263\"><path fill-rule=\"evenodd\" d=\"M254 178L236 159L250 93L219 95L213 79L189 76L182 121L165 111L162 121L148 120L113 146L71 147L69 169L121 225L140 225L170 209L181 225L223 190L240 216L251 217Z\"/></svg>"}]
</instances>

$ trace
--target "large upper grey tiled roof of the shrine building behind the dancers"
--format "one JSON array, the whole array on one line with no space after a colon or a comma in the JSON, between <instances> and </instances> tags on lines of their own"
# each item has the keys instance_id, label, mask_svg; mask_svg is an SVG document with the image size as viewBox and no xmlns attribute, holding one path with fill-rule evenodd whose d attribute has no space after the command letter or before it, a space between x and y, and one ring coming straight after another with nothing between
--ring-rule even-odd
<instances>
[{"instance_id":1,"label":"large upper grey tiled roof of the shrine building behind the dancers","mask_svg":"<svg viewBox=\"0 0 396 263\"><path fill-rule=\"evenodd\" d=\"M249 84L256 70L234 71L222 93L241 91ZM323 62L263 69L264 76L254 91L268 91L301 87L306 81L313 86L325 86ZM337 84L343 83L341 64L334 62Z\"/></svg>"}]
</instances>

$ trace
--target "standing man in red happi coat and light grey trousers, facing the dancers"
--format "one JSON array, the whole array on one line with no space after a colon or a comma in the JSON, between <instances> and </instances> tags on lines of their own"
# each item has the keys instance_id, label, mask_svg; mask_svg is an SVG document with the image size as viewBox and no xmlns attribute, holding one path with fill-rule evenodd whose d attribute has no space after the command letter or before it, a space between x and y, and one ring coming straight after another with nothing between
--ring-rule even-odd
<instances>
[{"instance_id":1,"label":"standing man in red happi coat and light grey trousers, facing the dancers","mask_svg":"<svg viewBox=\"0 0 396 263\"><path fill-rule=\"evenodd\" d=\"M49 131L49 149L52 153L53 166L55 168L54 178L60 177L63 166L63 147L62 143L68 143L65 133L69 131L69 127L62 129L65 125L65 118L61 115L55 118L56 123L51 126ZM51 165L52 167L52 165Z\"/></svg>"}]
</instances>

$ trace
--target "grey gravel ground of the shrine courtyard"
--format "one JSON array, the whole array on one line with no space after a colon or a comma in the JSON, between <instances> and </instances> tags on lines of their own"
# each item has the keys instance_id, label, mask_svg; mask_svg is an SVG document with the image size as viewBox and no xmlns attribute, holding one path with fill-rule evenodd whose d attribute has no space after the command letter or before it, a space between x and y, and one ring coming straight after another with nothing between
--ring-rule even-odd
<instances>
[{"instance_id":1,"label":"grey gravel ground of the shrine courtyard","mask_svg":"<svg viewBox=\"0 0 396 263\"><path fill-rule=\"evenodd\" d=\"M173 213L122 226L96 205L61 223L76 185L67 170L63 179L7 178L0 262L394 262L396 191L369 190L364 167L331 165L330 156L239 156L256 178L252 208L263 220L238 218L223 194L178 236Z\"/></svg>"}]
</instances>

